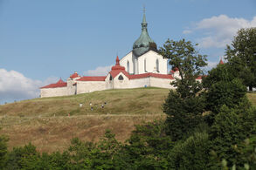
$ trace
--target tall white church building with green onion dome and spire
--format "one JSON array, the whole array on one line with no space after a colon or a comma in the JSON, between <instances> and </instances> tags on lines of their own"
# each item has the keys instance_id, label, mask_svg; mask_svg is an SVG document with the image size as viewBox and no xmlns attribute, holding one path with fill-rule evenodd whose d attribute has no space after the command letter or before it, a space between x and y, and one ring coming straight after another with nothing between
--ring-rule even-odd
<instances>
[{"instance_id":1,"label":"tall white church building with green onion dome and spire","mask_svg":"<svg viewBox=\"0 0 256 170\"><path fill-rule=\"evenodd\" d=\"M157 73L167 74L167 58L157 53L156 43L149 37L145 8L143 9L142 31L133 44L133 50L121 58L120 65L129 74Z\"/></svg>"}]
</instances>

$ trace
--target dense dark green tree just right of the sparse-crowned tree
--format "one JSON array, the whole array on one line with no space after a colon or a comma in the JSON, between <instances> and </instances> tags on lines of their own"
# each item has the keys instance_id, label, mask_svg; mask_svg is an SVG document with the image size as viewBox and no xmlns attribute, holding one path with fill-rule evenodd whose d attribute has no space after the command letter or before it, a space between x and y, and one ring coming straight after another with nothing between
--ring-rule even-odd
<instances>
[{"instance_id":1,"label":"dense dark green tree just right of the sparse-crowned tree","mask_svg":"<svg viewBox=\"0 0 256 170\"><path fill-rule=\"evenodd\" d=\"M205 120L210 126L222 105L235 108L244 102L244 109L250 107L246 99L246 86L236 78L231 65L218 65L208 71L207 77L203 78L203 85L206 90L204 92L205 110L210 111L205 116Z\"/></svg>"}]
</instances>

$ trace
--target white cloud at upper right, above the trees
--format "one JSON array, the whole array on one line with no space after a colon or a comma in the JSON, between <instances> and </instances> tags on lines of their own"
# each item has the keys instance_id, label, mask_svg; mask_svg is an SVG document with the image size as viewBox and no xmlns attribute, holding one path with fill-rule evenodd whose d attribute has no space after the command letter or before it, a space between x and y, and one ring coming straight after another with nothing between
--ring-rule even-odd
<instances>
[{"instance_id":1,"label":"white cloud at upper right, above the trees","mask_svg":"<svg viewBox=\"0 0 256 170\"><path fill-rule=\"evenodd\" d=\"M197 38L200 47L223 48L226 44L231 44L239 29L255 27L256 17L250 21L245 18L219 15L218 17L204 18L195 25L194 28L183 31L183 34L200 31L200 34L203 35L203 37Z\"/></svg>"}]
</instances>

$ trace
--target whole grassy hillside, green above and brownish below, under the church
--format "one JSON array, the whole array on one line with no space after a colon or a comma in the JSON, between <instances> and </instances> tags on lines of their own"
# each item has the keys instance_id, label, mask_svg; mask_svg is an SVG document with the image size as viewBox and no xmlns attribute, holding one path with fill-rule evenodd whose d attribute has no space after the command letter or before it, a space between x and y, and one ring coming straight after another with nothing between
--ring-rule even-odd
<instances>
[{"instance_id":1,"label":"whole grassy hillside, green above and brownish below, under the church","mask_svg":"<svg viewBox=\"0 0 256 170\"><path fill-rule=\"evenodd\" d=\"M162 104L168 92L161 88L107 90L0 105L0 133L9 136L10 148L31 141L45 152L62 151L74 137L97 141L106 129L124 141L136 124L165 118ZM248 93L248 98L256 105L256 93Z\"/></svg>"}]
</instances>

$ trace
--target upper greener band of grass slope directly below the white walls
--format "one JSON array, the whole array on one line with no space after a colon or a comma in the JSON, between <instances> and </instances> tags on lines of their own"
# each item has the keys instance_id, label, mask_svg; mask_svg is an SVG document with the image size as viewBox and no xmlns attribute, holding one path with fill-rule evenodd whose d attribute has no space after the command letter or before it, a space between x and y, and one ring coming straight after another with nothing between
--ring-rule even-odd
<instances>
[{"instance_id":1,"label":"upper greener band of grass slope directly below the white walls","mask_svg":"<svg viewBox=\"0 0 256 170\"><path fill-rule=\"evenodd\" d=\"M169 90L138 88L107 90L66 97L25 100L0 105L0 116L65 116L86 114L143 114L163 113L161 106ZM93 112L89 103L93 104ZM104 109L101 105L107 102ZM80 107L80 103L83 104Z\"/></svg>"}]
</instances>

